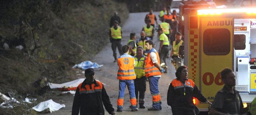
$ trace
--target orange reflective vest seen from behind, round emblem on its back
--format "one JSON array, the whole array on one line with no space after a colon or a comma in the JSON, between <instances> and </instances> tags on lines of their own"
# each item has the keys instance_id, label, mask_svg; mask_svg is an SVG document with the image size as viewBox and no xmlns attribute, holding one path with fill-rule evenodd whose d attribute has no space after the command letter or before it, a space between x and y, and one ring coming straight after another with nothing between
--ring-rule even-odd
<instances>
[{"instance_id":1,"label":"orange reflective vest seen from behind, round emblem on its back","mask_svg":"<svg viewBox=\"0 0 256 115\"><path fill-rule=\"evenodd\" d=\"M120 80L131 80L136 79L136 75L134 72L134 58L127 53L119 56L117 59L118 62L118 72L117 79Z\"/></svg>"}]
</instances>

